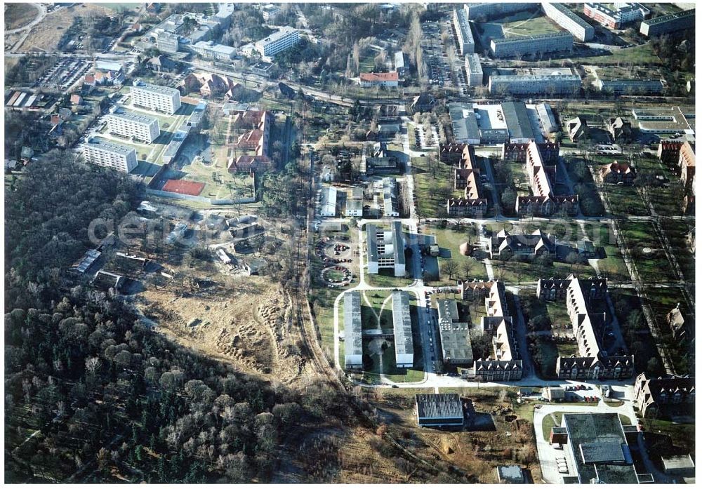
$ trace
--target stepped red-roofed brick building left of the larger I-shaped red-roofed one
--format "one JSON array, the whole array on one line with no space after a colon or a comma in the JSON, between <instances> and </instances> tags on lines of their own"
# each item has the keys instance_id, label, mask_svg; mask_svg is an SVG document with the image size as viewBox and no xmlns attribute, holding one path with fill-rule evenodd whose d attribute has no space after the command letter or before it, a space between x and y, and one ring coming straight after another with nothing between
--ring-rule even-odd
<instances>
[{"instance_id":1,"label":"stepped red-roofed brick building left of the larger I-shaped red-roofed one","mask_svg":"<svg viewBox=\"0 0 702 489\"><path fill-rule=\"evenodd\" d=\"M480 194L480 170L471 145L463 147L458 167L453 168L453 188L463 190L463 199L448 199L446 213L451 217L482 217L487 211L487 199Z\"/></svg>"}]
</instances>

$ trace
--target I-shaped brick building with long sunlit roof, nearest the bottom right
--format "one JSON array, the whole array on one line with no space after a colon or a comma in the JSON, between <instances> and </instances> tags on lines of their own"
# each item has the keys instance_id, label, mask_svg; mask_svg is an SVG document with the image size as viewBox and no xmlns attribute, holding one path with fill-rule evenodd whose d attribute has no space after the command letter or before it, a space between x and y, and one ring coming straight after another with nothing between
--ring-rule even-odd
<instances>
[{"instance_id":1,"label":"I-shaped brick building with long sunlit roof, nearest the bottom right","mask_svg":"<svg viewBox=\"0 0 702 489\"><path fill-rule=\"evenodd\" d=\"M541 300L565 297L568 315L578 342L579 356L559 356L559 379L625 379L634 373L634 357L611 328L604 312L594 312L595 301L606 304L607 279L539 279L536 294ZM606 307L602 306L601 307Z\"/></svg>"}]
</instances>

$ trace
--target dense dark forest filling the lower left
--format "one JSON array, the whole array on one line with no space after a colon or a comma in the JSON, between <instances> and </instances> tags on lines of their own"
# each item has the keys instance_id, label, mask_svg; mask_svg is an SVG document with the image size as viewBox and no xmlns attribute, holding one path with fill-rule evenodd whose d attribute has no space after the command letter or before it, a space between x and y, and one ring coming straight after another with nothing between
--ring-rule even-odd
<instances>
[{"instance_id":1,"label":"dense dark forest filling the lower left","mask_svg":"<svg viewBox=\"0 0 702 489\"><path fill-rule=\"evenodd\" d=\"M119 220L139 197L62 152L6 193L6 482L267 481L300 423L352 419L328 384L298 394L241 374L67 280L91 220Z\"/></svg>"}]
</instances>

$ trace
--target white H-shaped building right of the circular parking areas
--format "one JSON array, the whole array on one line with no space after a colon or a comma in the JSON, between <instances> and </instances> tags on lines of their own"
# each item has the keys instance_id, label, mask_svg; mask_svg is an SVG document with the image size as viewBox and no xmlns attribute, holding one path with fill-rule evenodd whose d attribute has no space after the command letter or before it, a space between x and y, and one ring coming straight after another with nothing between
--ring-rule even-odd
<instances>
[{"instance_id":1,"label":"white H-shaped building right of the circular parking areas","mask_svg":"<svg viewBox=\"0 0 702 489\"><path fill-rule=\"evenodd\" d=\"M368 273L378 274L380 269L392 269L395 276L404 276L404 235L402 221L393 221L390 231L366 225L366 254Z\"/></svg>"}]
</instances>

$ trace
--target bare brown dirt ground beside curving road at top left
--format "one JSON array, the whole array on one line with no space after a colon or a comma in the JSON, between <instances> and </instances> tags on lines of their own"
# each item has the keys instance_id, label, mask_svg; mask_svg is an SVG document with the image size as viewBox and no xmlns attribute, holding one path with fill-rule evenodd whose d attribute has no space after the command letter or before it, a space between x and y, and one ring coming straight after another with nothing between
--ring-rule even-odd
<instances>
[{"instance_id":1,"label":"bare brown dirt ground beside curving road at top left","mask_svg":"<svg viewBox=\"0 0 702 489\"><path fill-rule=\"evenodd\" d=\"M55 51L61 36L73 24L76 17L88 15L109 15L112 11L100 4L78 4L69 8L61 8L55 13L49 13L44 20L39 22L29 32L27 39L17 51L41 51L49 53Z\"/></svg>"}]
</instances>

